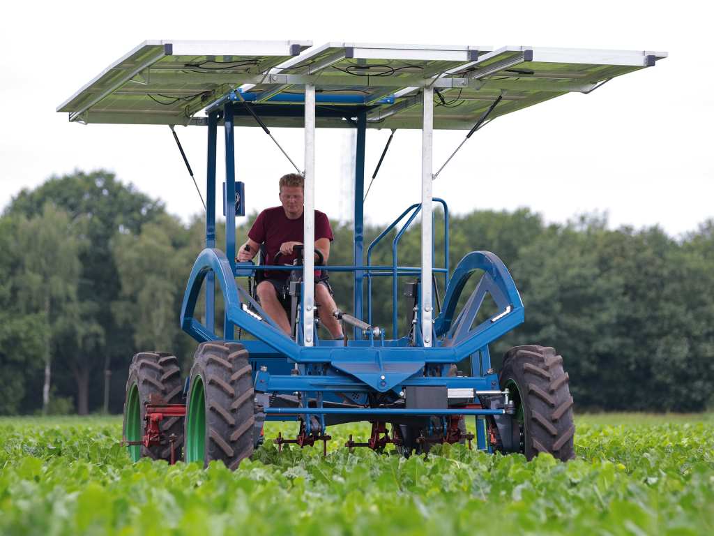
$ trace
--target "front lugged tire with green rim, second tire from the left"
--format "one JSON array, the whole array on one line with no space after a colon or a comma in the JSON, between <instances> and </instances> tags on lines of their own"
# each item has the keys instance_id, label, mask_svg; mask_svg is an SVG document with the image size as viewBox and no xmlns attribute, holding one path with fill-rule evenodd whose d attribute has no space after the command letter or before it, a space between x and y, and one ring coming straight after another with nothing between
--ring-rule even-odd
<instances>
[{"instance_id":1,"label":"front lugged tire with green rim, second tire from the left","mask_svg":"<svg viewBox=\"0 0 714 536\"><path fill-rule=\"evenodd\" d=\"M203 342L196 349L186 402L186 462L221 460L236 470L256 445L253 368L236 342ZM259 433L259 430L258 430Z\"/></svg>"}]
</instances>

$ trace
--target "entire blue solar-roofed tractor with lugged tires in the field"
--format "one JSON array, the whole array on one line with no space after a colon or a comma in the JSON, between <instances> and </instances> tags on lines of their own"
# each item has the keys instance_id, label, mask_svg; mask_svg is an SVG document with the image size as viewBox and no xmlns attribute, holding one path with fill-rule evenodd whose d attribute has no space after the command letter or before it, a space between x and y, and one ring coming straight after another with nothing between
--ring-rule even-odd
<instances>
[{"instance_id":1,"label":"entire blue solar-roofed tractor with lugged tires in the field","mask_svg":"<svg viewBox=\"0 0 714 536\"><path fill-rule=\"evenodd\" d=\"M491 364L490 345L524 320L508 269L496 254L483 251L466 254L453 271L448 264L448 205L432 195L443 169L434 172L433 131L464 131L458 151L498 116L569 92L588 94L664 57L649 51L527 46L146 41L111 64L58 111L85 124L163 124L172 131L191 125L208 134L206 249L193 264L181 307L181 327L200 344L185 380L170 352L134 356L124 407L124 441L131 457L221 460L233 469L261 444L265 421L291 420L296 435L279 435L278 448L316 442L324 447L330 425L360 421L371 423L371 436L363 442L350 438L347 447L383 450L391 443L409 456L426 453L435 443L461 442L486 452L521 452L528 459L538 452L573 458L573 398L555 349L514 347L500 370ZM216 247L219 126L226 167L220 201L226 216L223 249ZM260 183L236 181L235 126L265 131L304 177L304 245L296 264L236 261L236 217L245 214L246 189ZM303 169L278 144L271 127L304 129ZM321 267L353 275L351 312L334 312L345 332L351 331L343 340L321 339L315 314L316 127L356 131L354 262ZM397 129L421 129L423 135L421 202L401 212L365 249L368 128L391 129L392 135ZM181 149L175 131L174 137ZM193 177L183 149L181 154ZM248 151L243 154L249 157ZM441 267L435 263L435 204L443 207ZM398 245L417 218L421 266L401 266ZM371 264L374 248L386 237L392 238L392 264ZM245 285L236 284L266 269L291 272L291 335L278 328ZM376 277L391 278L390 329L373 323L373 309L390 307L390 300L372 295ZM216 332L214 318L216 285L224 304L222 333ZM197 311L202 292L206 307ZM402 292L413 307L411 322L400 329ZM495 309L484 311L488 296ZM475 434L468 431L467 419L475 420Z\"/></svg>"}]
</instances>

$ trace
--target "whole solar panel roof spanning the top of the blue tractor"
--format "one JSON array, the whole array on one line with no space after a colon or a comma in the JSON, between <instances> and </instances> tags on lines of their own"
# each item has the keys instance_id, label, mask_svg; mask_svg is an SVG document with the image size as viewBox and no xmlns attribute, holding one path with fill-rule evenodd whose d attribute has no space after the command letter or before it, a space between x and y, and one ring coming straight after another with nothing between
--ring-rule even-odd
<instances>
[{"instance_id":1,"label":"whole solar panel roof spanning the top of the blue tractor","mask_svg":"<svg viewBox=\"0 0 714 536\"><path fill-rule=\"evenodd\" d=\"M434 128L491 118L653 66L665 52L531 46L431 46L301 41L146 41L58 111L87 123L205 124L203 109L251 101L269 126L303 126L304 85L315 84L317 126L421 128L421 88L433 86ZM299 54L298 54L299 53ZM256 125L236 109L236 124Z\"/></svg>"}]
</instances>

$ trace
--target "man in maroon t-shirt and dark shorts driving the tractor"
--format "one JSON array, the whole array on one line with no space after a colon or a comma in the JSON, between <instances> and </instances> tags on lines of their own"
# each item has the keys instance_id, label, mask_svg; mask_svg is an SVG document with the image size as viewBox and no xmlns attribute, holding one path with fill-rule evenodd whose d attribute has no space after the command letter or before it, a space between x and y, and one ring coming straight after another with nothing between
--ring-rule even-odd
<instances>
[{"instance_id":1,"label":"man in maroon t-shirt and dark shorts driving the tractor","mask_svg":"<svg viewBox=\"0 0 714 536\"><path fill-rule=\"evenodd\" d=\"M253 227L248 231L248 240L238 252L238 261L246 262L256 256L261 244L266 247L266 264L273 264L278 252L281 264L291 264L296 255L293 246L303 240L303 176L297 173L283 175L280 179L280 207L265 209L258 214ZM319 250L325 264L330 256L330 242L333 240L330 220L324 212L315 211L315 249ZM317 257L317 255L316 255ZM258 298L265 312L287 334L291 334L290 321L279 297L283 297L288 279L286 271L266 270L265 278L258 284ZM337 308L332 298L326 274L315 272L315 300L320 307L318 317L335 339L343 337L342 327L333 317Z\"/></svg>"}]
</instances>

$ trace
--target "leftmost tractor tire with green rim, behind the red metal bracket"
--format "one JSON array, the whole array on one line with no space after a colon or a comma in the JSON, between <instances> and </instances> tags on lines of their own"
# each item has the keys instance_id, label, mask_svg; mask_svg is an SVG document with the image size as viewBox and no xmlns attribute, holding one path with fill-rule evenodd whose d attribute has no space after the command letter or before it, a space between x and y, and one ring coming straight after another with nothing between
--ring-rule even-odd
<instances>
[{"instance_id":1,"label":"leftmost tractor tire with green rim, behind the red metal bracket","mask_svg":"<svg viewBox=\"0 0 714 536\"><path fill-rule=\"evenodd\" d=\"M159 394L167 404L181 404L183 383L176 356L166 352L139 352L131 359L129 379L126 380L124 399L123 437L127 441L140 441L144 436L144 415L149 395ZM176 458L181 457L183 445L183 418L171 417L161 422L161 431L166 437L171 434L175 442ZM171 460L171 445L129 445L129 455L134 462L149 457L152 460Z\"/></svg>"}]
</instances>

